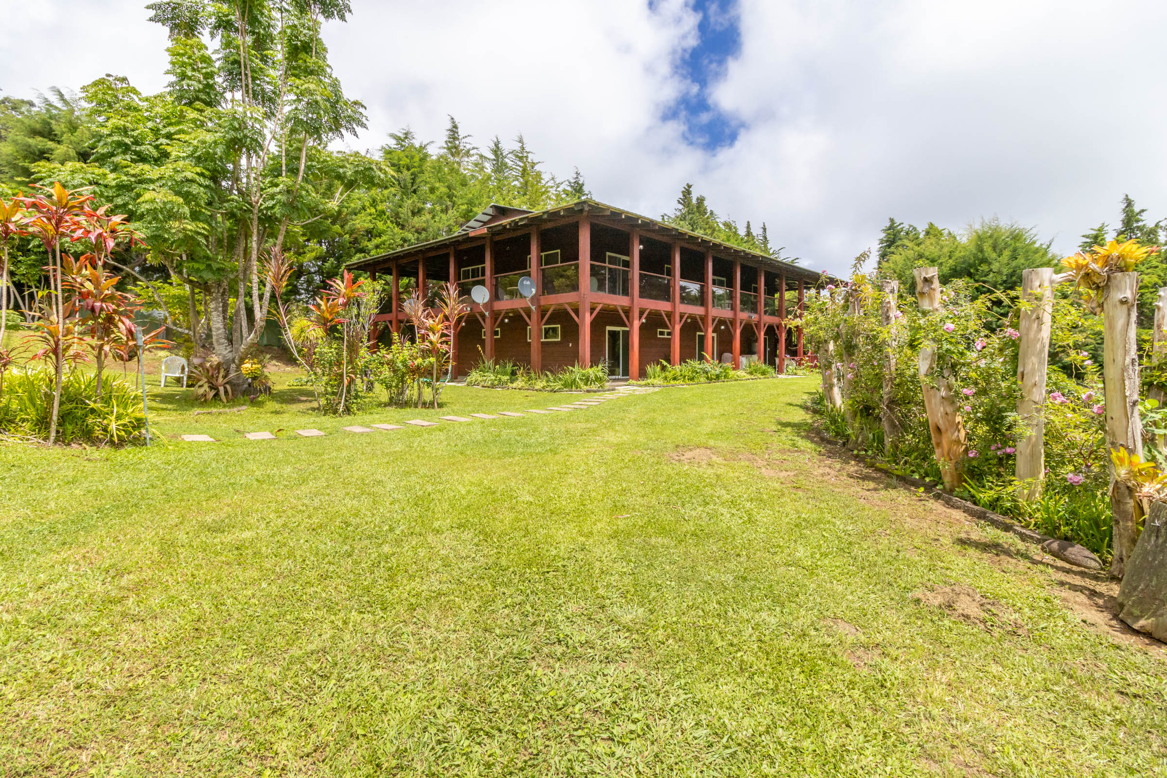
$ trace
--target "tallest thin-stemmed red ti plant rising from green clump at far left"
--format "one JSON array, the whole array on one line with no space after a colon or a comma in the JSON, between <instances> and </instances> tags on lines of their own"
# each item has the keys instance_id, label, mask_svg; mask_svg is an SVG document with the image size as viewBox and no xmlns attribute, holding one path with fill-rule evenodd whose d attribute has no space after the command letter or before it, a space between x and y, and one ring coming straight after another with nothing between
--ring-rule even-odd
<instances>
[{"instance_id":1,"label":"tallest thin-stemmed red ti plant rising from green clump at far left","mask_svg":"<svg viewBox=\"0 0 1167 778\"><path fill-rule=\"evenodd\" d=\"M49 420L49 446L57 437L57 416L61 413L61 378L64 372L65 342L65 304L64 292L61 286L61 239L71 234L76 229L77 216L82 212L82 206L93 199L92 195L83 195L82 189L72 191L56 182L51 188L37 187L44 194L36 197L25 197L22 202L32 211L28 220L28 231L41 239L44 250L49 252L53 265L49 267L49 282L53 289L50 303L53 306L53 322L47 323L44 331L56 329L55 336L56 353L54 355L54 369L56 371L56 384L53 390L53 416ZM41 316L46 308L42 306Z\"/></svg>"}]
</instances>

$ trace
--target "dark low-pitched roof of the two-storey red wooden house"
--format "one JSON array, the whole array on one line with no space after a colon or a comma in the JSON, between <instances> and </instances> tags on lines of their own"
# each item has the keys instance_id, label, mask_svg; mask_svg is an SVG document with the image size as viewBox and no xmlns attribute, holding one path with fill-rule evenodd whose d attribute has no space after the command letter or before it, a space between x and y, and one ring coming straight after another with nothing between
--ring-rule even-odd
<instances>
[{"instance_id":1,"label":"dark low-pitched roof of the two-storey red wooden house","mask_svg":"<svg viewBox=\"0 0 1167 778\"><path fill-rule=\"evenodd\" d=\"M445 238L436 238L435 240L427 240L425 243L413 244L412 246L404 246L401 248L394 248L393 251L386 251L380 254L373 254L372 257L365 257L364 259L357 259L345 267L359 269L363 267L371 267L390 259L397 259L407 254L424 253L428 250L441 248L449 246L450 244L463 243L468 238L476 238L478 236L490 234L497 236L511 230L523 230L529 226L539 224L541 222L550 222L552 219L562 218L565 216L575 216L588 213L591 216L608 217L617 219L623 224L626 229L637 227L641 234L647 234L649 237L657 238L671 238L675 240L683 240L689 244L708 247L715 251L722 257L735 257L739 259L748 259L750 261L757 262L763 267L774 269L777 272L785 273L790 279L802 279L804 281L818 281L824 276L834 280L833 276L825 273L819 273L818 271L812 271L808 267L801 267L791 262L783 261L781 259L775 259L769 254L762 254L755 251L749 251L748 248L742 248L741 246L734 246L733 244L722 243L720 240L714 240L707 236L699 234L697 232L690 232L689 230L682 230L675 227L671 224L666 224L659 219L654 219L648 216L642 216L640 213L633 213L631 211L626 211L613 205L607 205L605 203L594 199L580 199L574 203L567 203L564 205L555 205L554 208L548 208L541 211L523 211L516 216L504 218L502 220L495 222L492 224L487 224L489 219L495 216L496 211L494 209L502 209L509 206L501 206L491 203L489 206L482 210L481 213L475 216L473 219L467 222L462 227ZM520 210L520 209L512 209ZM477 224L477 226L471 226Z\"/></svg>"}]
</instances>

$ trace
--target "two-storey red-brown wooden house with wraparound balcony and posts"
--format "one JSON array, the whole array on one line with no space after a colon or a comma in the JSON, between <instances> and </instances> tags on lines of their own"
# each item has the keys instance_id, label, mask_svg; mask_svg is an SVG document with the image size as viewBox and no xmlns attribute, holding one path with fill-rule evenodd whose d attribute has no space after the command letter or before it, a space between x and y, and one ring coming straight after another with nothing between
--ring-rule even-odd
<instances>
[{"instance_id":1,"label":"two-storey red-brown wooden house with wraparound balcony and posts","mask_svg":"<svg viewBox=\"0 0 1167 778\"><path fill-rule=\"evenodd\" d=\"M532 258L536 258L532 261ZM349 265L391 276L379 336L407 331L401 302L447 281L481 285L455 338L455 376L483 358L537 370L605 363L636 379L658 359L802 362L801 309L819 273L658 219L582 199L543 211L490 205L452 236ZM519 293L530 276L536 290Z\"/></svg>"}]
</instances>

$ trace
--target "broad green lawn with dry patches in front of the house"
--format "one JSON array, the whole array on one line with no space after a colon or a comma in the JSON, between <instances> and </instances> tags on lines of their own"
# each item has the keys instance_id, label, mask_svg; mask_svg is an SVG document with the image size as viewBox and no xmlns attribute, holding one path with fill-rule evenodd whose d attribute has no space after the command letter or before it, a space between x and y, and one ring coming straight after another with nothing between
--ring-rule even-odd
<instances>
[{"instance_id":1,"label":"broad green lawn with dry patches in front of the house","mask_svg":"<svg viewBox=\"0 0 1167 778\"><path fill-rule=\"evenodd\" d=\"M0 775L1167 773L1163 651L1063 604L1112 587L832 460L812 386L0 444Z\"/></svg>"}]
</instances>

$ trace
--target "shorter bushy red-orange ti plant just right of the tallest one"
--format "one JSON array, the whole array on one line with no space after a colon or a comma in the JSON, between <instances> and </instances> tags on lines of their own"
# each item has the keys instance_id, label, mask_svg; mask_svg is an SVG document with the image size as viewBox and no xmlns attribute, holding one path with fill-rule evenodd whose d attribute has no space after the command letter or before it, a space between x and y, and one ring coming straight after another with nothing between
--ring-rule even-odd
<instances>
[{"instance_id":1,"label":"shorter bushy red-orange ti plant just right of the tallest one","mask_svg":"<svg viewBox=\"0 0 1167 778\"><path fill-rule=\"evenodd\" d=\"M119 292L118 275L109 275L93 254L79 261L65 254L63 272L65 287L72 292L70 303L77 310L81 330L97 362L97 397L102 397L102 371L105 359L119 341L134 337L133 311L139 308L131 294Z\"/></svg>"}]
</instances>

